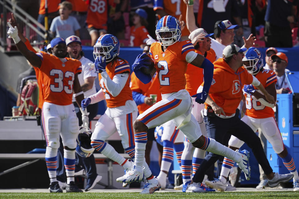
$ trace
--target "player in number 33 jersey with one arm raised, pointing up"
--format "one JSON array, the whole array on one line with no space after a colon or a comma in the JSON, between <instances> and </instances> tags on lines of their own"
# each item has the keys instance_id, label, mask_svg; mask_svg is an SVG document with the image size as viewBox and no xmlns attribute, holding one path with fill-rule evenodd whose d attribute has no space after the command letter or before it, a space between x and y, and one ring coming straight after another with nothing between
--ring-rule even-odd
<instances>
[{"instance_id":1,"label":"player in number 33 jersey with one arm raised, pointing up","mask_svg":"<svg viewBox=\"0 0 299 199\"><path fill-rule=\"evenodd\" d=\"M59 135L64 144L64 167L66 168L66 192L82 192L74 183L76 138L79 133L78 118L74 112L72 96L81 107L84 99L78 74L81 72L81 62L66 56L66 43L62 38L51 41L52 53L34 53L27 49L18 36L17 26L14 28L8 22L7 34L14 40L22 55L37 67L43 76L40 89L43 90L44 104L42 107L42 124L47 142L45 160L50 177L50 192L62 192L56 179L57 150ZM82 111L82 120L88 120L88 113Z\"/></svg>"}]
</instances>

